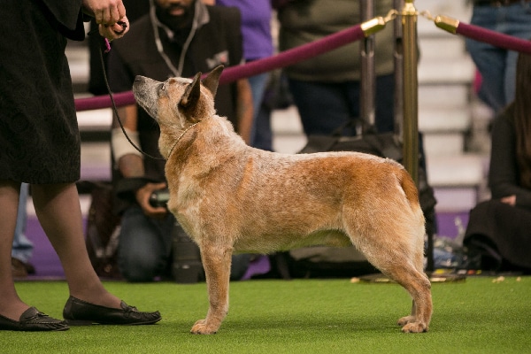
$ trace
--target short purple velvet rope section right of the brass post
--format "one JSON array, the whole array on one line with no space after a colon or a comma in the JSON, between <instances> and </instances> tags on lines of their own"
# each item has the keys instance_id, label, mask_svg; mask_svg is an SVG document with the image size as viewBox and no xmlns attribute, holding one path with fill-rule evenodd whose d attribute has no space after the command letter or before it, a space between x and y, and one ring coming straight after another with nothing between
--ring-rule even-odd
<instances>
[{"instance_id":1,"label":"short purple velvet rope section right of the brass post","mask_svg":"<svg viewBox=\"0 0 531 354\"><path fill-rule=\"evenodd\" d=\"M495 47L531 54L531 41L513 37L512 35L504 35L496 31L491 31L478 26L467 25L461 22L459 22L459 25L456 28L456 33L476 41L492 44Z\"/></svg>"}]
</instances>

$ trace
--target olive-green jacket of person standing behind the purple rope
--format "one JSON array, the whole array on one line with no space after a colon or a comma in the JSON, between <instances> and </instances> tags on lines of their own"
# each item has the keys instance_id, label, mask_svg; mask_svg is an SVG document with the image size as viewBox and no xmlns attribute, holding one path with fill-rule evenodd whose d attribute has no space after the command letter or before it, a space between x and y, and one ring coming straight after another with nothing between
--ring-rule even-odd
<instances>
[{"instance_id":1,"label":"olive-green jacket of person standing behind the purple rope","mask_svg":"<svg viewBox=\"0 0 531 354\"><path fill-rule=\"evenodd\" d=\"M317 41L361 22L360 1L312 0L283 2L278 10L281 23L279 47L281 51ZM374 16L385 16L393 8L393 1L374 1ZM375 35L374 66L377 75L394 71L393 24L389 23ZM359 81L361 64L359 42L352 42L317 57L286 67L291 79L299 81Z\"/></svg>"}]
</instances>

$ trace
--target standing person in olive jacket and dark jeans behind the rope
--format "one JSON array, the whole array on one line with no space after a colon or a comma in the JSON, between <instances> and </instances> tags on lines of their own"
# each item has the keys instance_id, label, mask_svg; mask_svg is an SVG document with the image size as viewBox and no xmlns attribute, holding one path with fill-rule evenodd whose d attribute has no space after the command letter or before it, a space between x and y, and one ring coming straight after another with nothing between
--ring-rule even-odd
<instances>
[{"instance_id":1,"label":"standing person in olive jacket and dark jeans behind the rope","mask_svg":"<svg viewBox=\"0 0 531 354\"><path fill-rule=\"evenodd\" d=\"M359 1L277 0L274 3L280 21L280 51L319 40L361 22ZM373 3L374 15L382 16L393 9L394 2ZM394 43L392 26L376 33L375 126L380 133L392 132L395 128ZM330 135L350 119L359 118L359 45L353 42L284 68L306 135ZM355 135L354 129L343 133Z\"/></svg>"}]
</instances>

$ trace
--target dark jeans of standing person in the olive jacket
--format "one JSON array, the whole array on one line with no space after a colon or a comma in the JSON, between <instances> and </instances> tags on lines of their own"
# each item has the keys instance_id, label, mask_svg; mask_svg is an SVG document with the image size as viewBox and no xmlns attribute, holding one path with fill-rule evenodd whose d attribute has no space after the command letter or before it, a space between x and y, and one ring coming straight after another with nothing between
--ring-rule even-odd
<instances>
[{"instance_id":1,"label":"dark jeans of standing person in the olive jacket","mask_svg":"<svg viewBox=\"0 0 531 354\"><path fill-rule=\"evenodd\" d=\"M378 132L392 132L394 123L395 75L376 78L375 116ZM390 89L389 89L390 88ZM350 119L359 118L359 81L319 82L289 79L306 135L330 135ZM344 135L355 135L352 129Z\"/></svg>"}]
</instances>

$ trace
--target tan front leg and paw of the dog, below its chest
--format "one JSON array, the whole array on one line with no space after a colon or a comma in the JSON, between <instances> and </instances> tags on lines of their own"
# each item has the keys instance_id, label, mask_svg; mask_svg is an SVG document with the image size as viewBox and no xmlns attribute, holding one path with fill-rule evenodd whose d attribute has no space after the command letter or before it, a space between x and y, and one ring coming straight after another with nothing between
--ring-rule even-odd
<instances>
[{"instance_id":1,"label":"tan front leg and paw of the dog, below its chest","mask_svg":"<svg viewBox=\"0 0 531 354\"><path fill-rule=\"evenodd\" d=\"M228 312L228 284L232 248L223 248L219 244L208 242L200 247L203 260L206 287L210 307L205 319L196 321L191 329L195 335L212 335L218 332L221 321Z\"/></svg>"}]
</instances>

